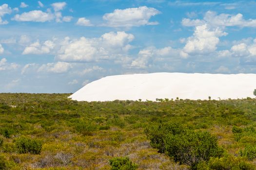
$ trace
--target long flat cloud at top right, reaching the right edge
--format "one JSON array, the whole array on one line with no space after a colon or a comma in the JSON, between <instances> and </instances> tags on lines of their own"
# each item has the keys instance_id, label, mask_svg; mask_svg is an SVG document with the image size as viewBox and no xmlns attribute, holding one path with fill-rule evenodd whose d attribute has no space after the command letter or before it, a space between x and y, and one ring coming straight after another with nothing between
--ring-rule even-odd
<instances>
[{"instance_id":1,"label":"long flat cloud at top right, reaching the right edge","mask_svg":"<svg viewBox=\"0 0 256 170\"><path fill-rule=\"evenodd\" d=\"M220 14L217 15L216 12L207 11L203 19L189 19L183 18L181 21L184 26L198 26L207 23L212 27L229 27L229 26L239 26L239 27L256 27L256 19L244 19L243 15L238 13L236 15L231 14Z\"/></svg>"}]
</instances>

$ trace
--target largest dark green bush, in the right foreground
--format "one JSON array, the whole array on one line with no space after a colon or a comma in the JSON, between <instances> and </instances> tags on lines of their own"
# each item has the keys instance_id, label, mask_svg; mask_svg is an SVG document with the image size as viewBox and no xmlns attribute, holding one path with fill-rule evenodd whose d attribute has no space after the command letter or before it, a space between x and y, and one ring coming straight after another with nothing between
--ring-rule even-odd
<instances>
[{"instance_id":1,"label":"largest dark green bush, in the right foreground","mask_svg":"<svg viewBox=\"0 0 256 170\"><path fill-rule=\"evenodd\" d=\"M187 131L184 134L169 134L164 143L166 153L175 162L189 165L193 170L196 170L198 163L223 153L218 147L217 138L208 132Z\"/></svg>"}]
</instances>

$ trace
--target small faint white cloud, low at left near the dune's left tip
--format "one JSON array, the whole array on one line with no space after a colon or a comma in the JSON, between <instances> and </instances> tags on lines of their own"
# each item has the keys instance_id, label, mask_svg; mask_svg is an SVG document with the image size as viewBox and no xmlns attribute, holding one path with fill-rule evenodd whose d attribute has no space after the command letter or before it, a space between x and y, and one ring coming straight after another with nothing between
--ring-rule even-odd
<instances>
[{"instance_id":1,"label":"small faint white cloud, low at left near the dune's left tip","mask_svg":"<svg viewBox=\"0 0 256 170\"><path fill-rule=\"evenodd\" d=\"M64 73L64 72L67 72L70 68L72 68L72 65L70 63L65 63L65 62L47 63L39 67L38 72Z\"/></svg>"}]
</instances>

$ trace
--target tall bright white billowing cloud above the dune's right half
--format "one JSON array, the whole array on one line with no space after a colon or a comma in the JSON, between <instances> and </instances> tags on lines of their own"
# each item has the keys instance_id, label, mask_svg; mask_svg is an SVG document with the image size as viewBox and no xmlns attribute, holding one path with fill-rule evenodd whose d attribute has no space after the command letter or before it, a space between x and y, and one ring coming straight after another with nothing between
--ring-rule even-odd
<instances>
[{"instance_id":1,"label":"tall bright white billowing cloud above the dune's right half","mask_svg":"<svg viewBox=\"0 0 256 170\"><path fill-rule=\"evenodd\" d=\"M219 28L210 30L207 24L197 26L193 36L187 38L187 43L183 51L189 54L202 54L214 52L217 49L220 36L227 33Z\"/></svg>"}]
</instances>

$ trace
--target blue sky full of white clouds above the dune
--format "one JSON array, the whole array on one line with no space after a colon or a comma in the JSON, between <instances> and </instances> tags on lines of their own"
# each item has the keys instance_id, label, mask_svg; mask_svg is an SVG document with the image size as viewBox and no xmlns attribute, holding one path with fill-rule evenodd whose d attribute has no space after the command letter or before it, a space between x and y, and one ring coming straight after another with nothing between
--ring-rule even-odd
<instances>
[{"instance_id":1,"label":"blue sky full of white clouds above the dune","mask_svg":"<svg viewBox=\"0 0 256 170\"><path fill-rule=\"evenodd\" d=\"M118 74L256 73L256 1L0 0L0 92Z\"/></svg>"}]
</instances>

